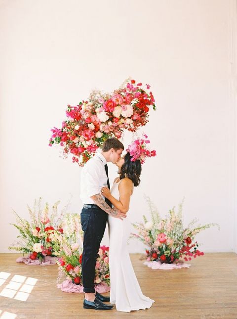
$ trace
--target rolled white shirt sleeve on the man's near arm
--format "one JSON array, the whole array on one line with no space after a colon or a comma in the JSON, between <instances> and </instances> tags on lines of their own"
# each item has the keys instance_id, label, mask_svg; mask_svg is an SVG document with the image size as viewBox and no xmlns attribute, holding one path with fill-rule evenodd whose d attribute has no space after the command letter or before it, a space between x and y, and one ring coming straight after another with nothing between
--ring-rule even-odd
<instances>
[{"instance_id":1,"label":"rolled white shirt sleeve on the man's near arm","mask_svg":"<svg viewBox=\"0 0 237 319\"><path fill-rule=\"evenodd\" d=\"M101 165L93 163L86 170L86 192L89 197L100 194Z\"/></svg>"}]
</instances>

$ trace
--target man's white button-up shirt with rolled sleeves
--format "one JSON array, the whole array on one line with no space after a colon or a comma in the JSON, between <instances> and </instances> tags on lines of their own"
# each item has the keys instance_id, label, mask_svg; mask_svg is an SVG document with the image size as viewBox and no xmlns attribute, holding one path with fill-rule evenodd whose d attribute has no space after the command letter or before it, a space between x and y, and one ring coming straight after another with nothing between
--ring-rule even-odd
<instances>
[{"instance_id":1,"label":"man's white button-up shirt with rolled sleeves","mask_svg":"<svg viewBox=\"0 0 237 319\"><path fill-rule=\"evenodd\" d=\"M101 188L107 186L105 171L105 157L96 153L90 158L81 170L80 176L80 199L83 204L94 204L90 196L100 194ZM102 196L104 198L104 196Z\"/></svg>"}]
</instances>

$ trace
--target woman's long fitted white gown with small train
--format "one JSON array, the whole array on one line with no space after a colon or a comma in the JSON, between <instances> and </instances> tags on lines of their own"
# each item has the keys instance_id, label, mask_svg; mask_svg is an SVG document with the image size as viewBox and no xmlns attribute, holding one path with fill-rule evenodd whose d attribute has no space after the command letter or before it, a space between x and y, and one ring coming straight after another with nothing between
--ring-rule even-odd
<instances>
[{"instance_id":1,"label":"woman's long fitted white gown with small train","mask_svg":"<svg viewBox=\"0 0 237 319\"><path fill-rule=\"evenodd\" d=\"M111 188L111 194L119 200L119 182ZM110 303L116 305L118 311L146 309L152 306L154 300L143 295L134 273L127 249L127 239L130 235L128 217L121 221L109 216L110 237Z\"/></svg>"}]
</instances>

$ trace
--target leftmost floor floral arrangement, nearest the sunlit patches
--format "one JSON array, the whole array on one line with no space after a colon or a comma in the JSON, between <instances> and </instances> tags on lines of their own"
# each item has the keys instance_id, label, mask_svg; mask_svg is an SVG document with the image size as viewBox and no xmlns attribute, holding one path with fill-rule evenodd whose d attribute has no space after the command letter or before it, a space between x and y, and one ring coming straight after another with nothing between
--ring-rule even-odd
<instances>
[{"instance_id":1,"label":"leftmost floor floral arrangement, nearest the sunlit patches","mask_svg":"<svg viewBox=\"0 0 237 319\"><path fill-rule=\"evenodd\" d=\"M46 256L56 256L56 242L51 240L51 234L57 230L63 233L62 228L62 216L65 213L65 209L58 215L57 201L53 206L50 207L48 203L42 208L42 199L35 200L33 209L27 206L30 222L21 218L14 210L16 215L16 224L13 225L17 228L20 234L17 236L18 240L14 246L8 247L10 250L16 250L19 252L29 253L29 258L33 261L39 259L40 262Z\"/></svg>"}]
</instances>

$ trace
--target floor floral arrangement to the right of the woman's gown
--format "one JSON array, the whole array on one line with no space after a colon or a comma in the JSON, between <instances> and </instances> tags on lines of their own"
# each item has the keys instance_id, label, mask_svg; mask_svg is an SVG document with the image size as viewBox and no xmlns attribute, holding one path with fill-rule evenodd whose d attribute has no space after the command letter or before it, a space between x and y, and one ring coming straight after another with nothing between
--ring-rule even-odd
<instances>
[{"instance_id":1,"label":"floor floral arrangement to the right of the woman's gown","mask_svg":"<svg viewBox=\"0 0 237 319\"><path fill-rule=\"evenodd\" d=\"M149 197L146 201L150 208L151 221L143 215L143 222L132 224L137 233L131 233L130 238L138 238L147 247L147 261L160 262L161 264L173 264L190 261L192 258L204 255L198 249L195 236L201 230L218 226L217 224L206 224L196 226L197 220L193 220L186 228L182 221L183 202L179 204L178 213L174 208L169 210L164 219L158 214L157 208Z\"/></svg>"}]
</instances>

